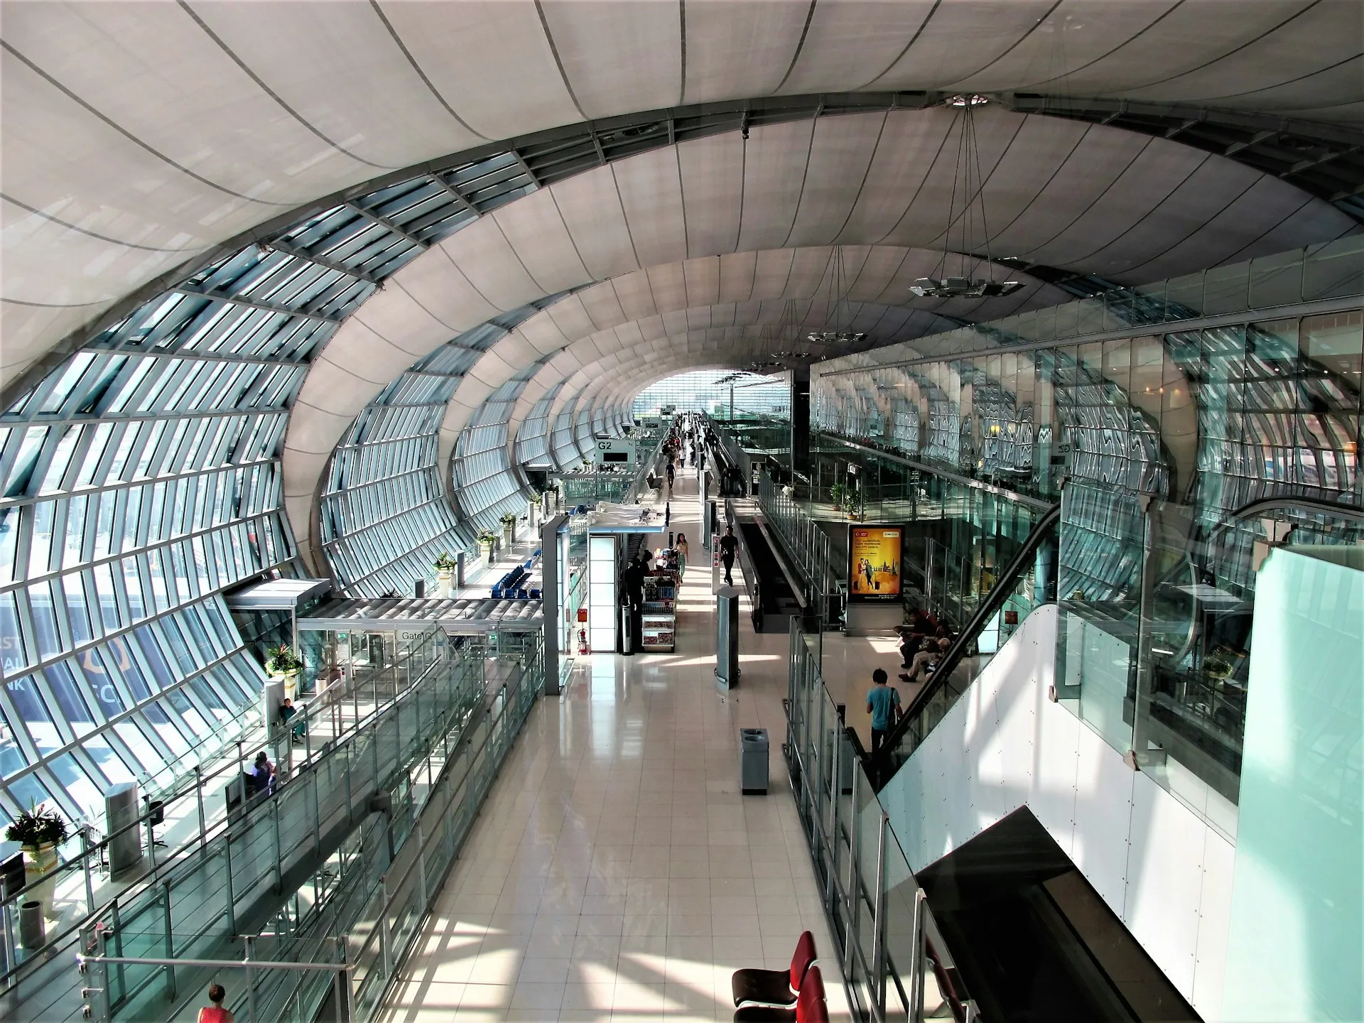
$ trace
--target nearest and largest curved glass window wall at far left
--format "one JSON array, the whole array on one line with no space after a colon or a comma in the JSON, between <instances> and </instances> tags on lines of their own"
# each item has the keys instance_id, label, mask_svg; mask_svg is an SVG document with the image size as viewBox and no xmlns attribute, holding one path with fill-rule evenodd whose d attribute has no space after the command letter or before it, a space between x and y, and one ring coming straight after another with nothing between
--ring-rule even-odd
<instances>
[{"instance_id":1,"label":"nearest and largest curved glass window wall at far left","mask_svg":"<svg viewBox=\"0 0 1364 1023\"><path fill-rule=\"evenodd\" d=\"M0 810L102 817L231 742L262 672L220 593L293 572L280 450L308 361L383 280L533 191L421 168L191 267L0 413Z\"/></svg>"}]
</instances>

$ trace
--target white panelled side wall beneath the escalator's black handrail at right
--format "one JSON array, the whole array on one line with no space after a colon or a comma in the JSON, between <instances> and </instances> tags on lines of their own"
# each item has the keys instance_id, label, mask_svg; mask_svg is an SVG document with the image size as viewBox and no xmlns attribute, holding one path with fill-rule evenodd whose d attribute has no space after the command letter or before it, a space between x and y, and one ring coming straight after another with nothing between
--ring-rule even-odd
<instances>
[{"instance_id":1,"label":"white panelled side wall beneath the escalator's black handrail at right","mask_svg":"<svg viewBox=\"0 0 1364 1023\"><path fill-rule=\"evenodd\" d=\"M1217 1019L1234 848L1048 700L1057 612L1045 606L881 791L915 870L1027 805L1203 1015Z\"/></svg>"}]
</instances>

